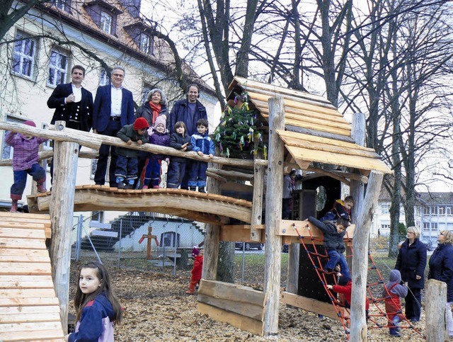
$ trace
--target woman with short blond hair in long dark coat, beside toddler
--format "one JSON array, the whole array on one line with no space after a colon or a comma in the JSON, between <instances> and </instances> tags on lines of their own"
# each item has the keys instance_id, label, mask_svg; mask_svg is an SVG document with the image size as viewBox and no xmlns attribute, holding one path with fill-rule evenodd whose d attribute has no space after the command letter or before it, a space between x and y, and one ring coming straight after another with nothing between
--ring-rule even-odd
<instances>
[{"instance_id":1,"label":"woman with short blond hair in long dark coat, beside toddler","mask_svg":"<svg viewBox=\"0 0 453 342\"><path fill-rule=\"evenodd\" d=\"M406 318L413 322L420 320L421 289L425 287L426 246L418 238L420 232L408 227L408 238L399 249L395 269L401 273L403 282L408 283L406 296Z\"/></svg>"}]
</instances>

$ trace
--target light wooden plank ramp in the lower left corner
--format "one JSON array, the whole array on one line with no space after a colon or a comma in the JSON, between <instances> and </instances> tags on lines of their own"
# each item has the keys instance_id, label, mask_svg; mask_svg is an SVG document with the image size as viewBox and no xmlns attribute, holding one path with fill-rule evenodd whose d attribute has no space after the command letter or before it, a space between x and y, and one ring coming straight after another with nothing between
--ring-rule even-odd
<instances>
[{"instance_id":1,"label":"light wooden plank ramp in the lower left corner","mask_svg":"<svg viewBox=\"0 0 453 342\"><path fill-rule=\"evenodd\" d=\"M46 237L49 215L0 212L0 341L64 341Z\"/></svg>"}]
</instances>

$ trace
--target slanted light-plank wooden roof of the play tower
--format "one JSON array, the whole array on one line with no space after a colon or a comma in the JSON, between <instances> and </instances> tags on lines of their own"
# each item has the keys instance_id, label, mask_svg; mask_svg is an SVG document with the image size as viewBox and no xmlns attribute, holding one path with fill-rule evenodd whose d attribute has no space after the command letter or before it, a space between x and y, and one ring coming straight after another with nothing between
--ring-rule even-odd
<instances>
[{"instance_id":1,"label":"slanted light-plank wooden roof of the play tower","mask_svg":"<svg viewBox=\"0 0 453 342\"><path fill-rule=\"evenodd\" d=\"M234 77L231 94L247 91L248 102L269 116L269 98L282 96L285 101L285 130L277 130L294 161L307 169L313 161L359 169L391 173L374 149L355 144L351 125L325 98L304 91L285 89L251 79Z\"/></svg>"}]
</instances>

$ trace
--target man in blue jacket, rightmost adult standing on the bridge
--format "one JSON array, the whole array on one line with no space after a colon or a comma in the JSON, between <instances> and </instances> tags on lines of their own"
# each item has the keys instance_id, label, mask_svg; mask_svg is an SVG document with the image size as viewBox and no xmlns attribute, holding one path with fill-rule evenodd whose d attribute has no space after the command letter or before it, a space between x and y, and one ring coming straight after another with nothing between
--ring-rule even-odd
<instances>
[{"instance_id":1,"label":"man in blue jacket, rightmost adult standing on the bridge","mask_svg":"<svg viewBox=\"0 0 453 342\"><path fill-rule=\"evenodd\" d=\"M203 106L197 98L200 97L200 89L197 84L190 84L187 90L187 98L184 100L176 101L173 108L171 108L171 113L167 118L167 129L168 132L173 132L173 127L178 121L185 123L187 127L187 134L192 136L197 134L197 121L200 119L207 120L206 108ZM186 169L188 172L185 173L184 179L181 182L181 189L188 189L189 181L189 171L192 169L192 161L188 159L186 164Z\"/></svg>"}]
</instances>

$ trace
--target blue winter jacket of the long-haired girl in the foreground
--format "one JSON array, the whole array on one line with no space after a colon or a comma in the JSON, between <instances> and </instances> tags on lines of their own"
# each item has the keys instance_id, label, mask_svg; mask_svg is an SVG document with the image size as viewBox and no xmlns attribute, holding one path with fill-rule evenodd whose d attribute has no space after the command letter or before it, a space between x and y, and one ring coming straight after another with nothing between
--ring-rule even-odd
<instances>
[{"instance_id":1,"label":"blue winter jacket of the long-haired girl in the foreground","mask_svg":"<svg viewBox=\"0 0 453 342\"><path fill-rule=\"evenodd\" d=\"M76 330L69 335L69 342L113 342L115 311L105 293L88 302L82 310Z\"/></svg>"}]
</instances>

